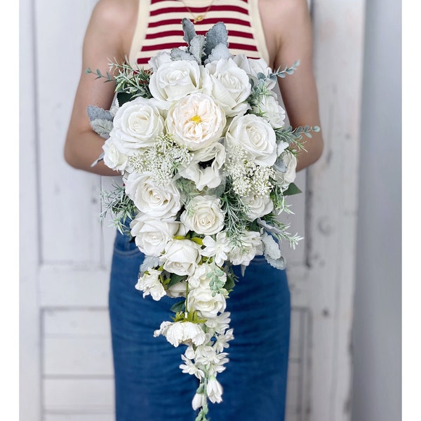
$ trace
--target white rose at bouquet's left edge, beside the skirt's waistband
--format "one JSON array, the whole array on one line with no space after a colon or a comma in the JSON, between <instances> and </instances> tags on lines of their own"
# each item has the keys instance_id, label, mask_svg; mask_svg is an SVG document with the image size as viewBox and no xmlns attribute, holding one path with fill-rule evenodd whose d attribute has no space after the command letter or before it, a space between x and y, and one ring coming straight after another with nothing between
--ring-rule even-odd
<instances>
[{"instance_id":1,"label":"white rose at bouquet's left edge, beside the skirt's waistband","mask_svg":"<svg viewBox=\"0 0 421 421\"><path fill-rule=\"evenodd\" d=\"M131 222L131 235L135 237L136 246L145 255L160 256L166 244L178 231L180 223L175 220L150 218L140 213Z\"/></svg>"}]
</instances>

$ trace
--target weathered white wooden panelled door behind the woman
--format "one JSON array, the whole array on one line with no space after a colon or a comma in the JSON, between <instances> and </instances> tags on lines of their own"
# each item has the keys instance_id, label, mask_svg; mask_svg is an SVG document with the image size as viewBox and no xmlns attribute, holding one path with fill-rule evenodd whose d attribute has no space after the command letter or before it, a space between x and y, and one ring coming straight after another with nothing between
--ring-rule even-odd
<instances>
[{"instance_id":1,"label":"weathered white wooden panelled door behind the woman","mask_svg":"<svg viewBox=\"0 0 421 421\"><path fill-rule=\"evenodd\" d=\"M21 420L112 421L107 314L114 231L109 179L62 147L95 0L21 0ZM314 0L314 68L325 150L299 174L288 252L293 299L288 421L349 420L363 0Z\"/></svg>"}]
</instances>

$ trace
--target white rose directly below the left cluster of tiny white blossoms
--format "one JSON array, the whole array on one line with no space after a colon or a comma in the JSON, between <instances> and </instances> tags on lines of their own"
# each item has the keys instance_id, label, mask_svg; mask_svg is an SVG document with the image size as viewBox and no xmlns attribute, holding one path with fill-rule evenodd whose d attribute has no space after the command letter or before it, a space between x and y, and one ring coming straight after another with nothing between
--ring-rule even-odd
<instances>
[{"instance_id":1,"label":"white rose directly below the left cluster of tiny white blossoms","mask_svg":"<svg viewBox=\"0 0 421 421\"><path fill-rule=\"evenodd\" d=\"M150 173L131 173L125 182L136 208L152 218L173 218L181 208L178 189L173 184L157 186Z\"/></svg>"}]
</instances>

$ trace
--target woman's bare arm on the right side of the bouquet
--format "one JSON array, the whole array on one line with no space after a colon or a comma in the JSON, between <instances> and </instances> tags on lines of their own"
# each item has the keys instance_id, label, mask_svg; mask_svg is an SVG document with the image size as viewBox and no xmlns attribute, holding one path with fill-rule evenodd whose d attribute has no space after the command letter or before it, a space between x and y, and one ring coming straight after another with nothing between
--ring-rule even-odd
<instances>
[{"instance_id":1,"label":"woman's bare arm on the right side of the bouquet","mask_svg":"<svg viewBox=\"0 0 421 421\"><path fill-rule=\"evenodd\" d=\"M263 6L263 8L262 8ZM298 69L279 80L279 88L290 125L319 126L319 102L313 73L312 22L307 0L262 0L261 14L265 34L276 40L272 47L274 69L290 67L300 60ZM306 151L298 154L297 170L316 162L323 150L321 131L312 133Z\"/></svg>"}]
</instances>

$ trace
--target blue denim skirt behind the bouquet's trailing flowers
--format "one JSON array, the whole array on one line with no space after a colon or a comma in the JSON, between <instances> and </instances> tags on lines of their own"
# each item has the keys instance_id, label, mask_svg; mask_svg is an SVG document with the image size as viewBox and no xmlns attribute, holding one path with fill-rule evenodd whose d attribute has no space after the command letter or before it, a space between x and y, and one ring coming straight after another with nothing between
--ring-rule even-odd
<instances>
[{"instance_id":1,"label":"blue denim skirt behind the bouquet's trailing flowers","mask_svg":"<svg viewBox=\"0 0 421 421\"><path fill-rule=\"evenodd\" d=\"M128 236L116 235L109 288L116 421L194 421L197 382L182 373L180 355L154 330L171 320L175 300L154 301L135 289L143 255ZM255 258L229 300L229 363L218 380L222 403L210 403L212 421L283 421L290 336L290 292L285 271Z\"/></svg>"}]
</instances>

